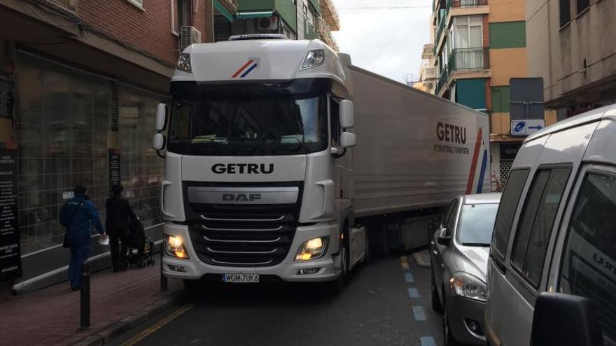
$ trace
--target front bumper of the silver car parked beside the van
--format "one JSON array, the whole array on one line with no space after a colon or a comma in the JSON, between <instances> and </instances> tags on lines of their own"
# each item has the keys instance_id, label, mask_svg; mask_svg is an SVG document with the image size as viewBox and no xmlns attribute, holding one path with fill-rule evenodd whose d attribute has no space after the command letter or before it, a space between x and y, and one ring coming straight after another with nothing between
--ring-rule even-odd
<instances>
[{"instance_id":1,"label":"front bumper of the silver car parked beside the van","mask_svg":"<svg viewBox=\"0 0 616 346\"><path fill-rule=\"evenodd\" d=\"M459 343L469 345L486 345L484 336L484 310L486 303L462 296L447 297L447 315L451 335ZM470 323L479 324L480 331L470 330Z\"/></svg>"}]
</instances>

